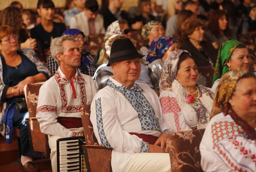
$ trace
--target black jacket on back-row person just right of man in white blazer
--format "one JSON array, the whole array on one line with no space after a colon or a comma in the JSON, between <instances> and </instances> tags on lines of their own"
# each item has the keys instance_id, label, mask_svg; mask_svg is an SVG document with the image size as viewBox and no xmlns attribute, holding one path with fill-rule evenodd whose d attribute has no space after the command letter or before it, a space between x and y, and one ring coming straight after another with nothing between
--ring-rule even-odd
<instances>
[{"instance_id":1,"label":"black jacket on back-row person just right of man in white blazer","mask_svg":"<svg viewBox=\"0 0 256 172\"><path fill-rule=\"evenodd\" d=\"M106 8L103 11L99 12L104 17L104 27L107 29L107 27L113 23L114 21L117 21L118 19L116 16L112 14L112 12L109 10L109 8ZM121 11L121 17L122 19L126 20L128 24L130 25L130 20L128 17L128 14L125 11Z\"/></svg>"}]
</instances>

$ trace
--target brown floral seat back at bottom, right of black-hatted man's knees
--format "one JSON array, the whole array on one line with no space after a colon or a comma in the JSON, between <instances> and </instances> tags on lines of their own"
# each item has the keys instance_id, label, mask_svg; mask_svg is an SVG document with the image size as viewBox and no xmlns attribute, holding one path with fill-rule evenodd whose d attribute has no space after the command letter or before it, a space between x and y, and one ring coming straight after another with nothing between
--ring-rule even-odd
<instances>
[{"instance_id":1,"label":"brown floral seat back at bottom, right of black-hatted man's knees","mask_svg":"<svg viewBox=\"0 0 256 172\"><path fill-rule=\"evenodd\" d=\"M167 136L171 171L203 172L199 145L205 129L170 133Z\"/></svg>"}]
</instances>

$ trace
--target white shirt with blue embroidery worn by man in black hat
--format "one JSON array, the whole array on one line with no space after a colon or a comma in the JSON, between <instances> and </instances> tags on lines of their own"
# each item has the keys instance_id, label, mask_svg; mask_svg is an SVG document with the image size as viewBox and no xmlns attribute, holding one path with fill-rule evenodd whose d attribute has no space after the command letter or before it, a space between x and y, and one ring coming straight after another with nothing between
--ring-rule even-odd
<instances>
[{"instance_id":1,"label":"white shirt with blue embroidery worn by man in black hat","mask_svg":"<svg viewBox=\"0 0 256 172\"><path fill-rule=\"evenodd\" d=\"M113 149L113 172L122 172L134 155L148 151L149 144L130 132L156 137L164 130L172 132L162 120L158 96L148 85L127 88L113 76L94 97L90 120L98 143Z\"/></svg>"}]
</instances>

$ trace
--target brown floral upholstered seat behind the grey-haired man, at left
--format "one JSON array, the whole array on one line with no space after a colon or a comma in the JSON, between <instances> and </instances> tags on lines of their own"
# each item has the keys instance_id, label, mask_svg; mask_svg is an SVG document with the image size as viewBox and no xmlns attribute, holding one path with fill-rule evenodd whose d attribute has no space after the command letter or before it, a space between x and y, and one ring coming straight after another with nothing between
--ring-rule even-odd
<instances>
[{"instance_id":1,"label":"brown floral upholstered seat behind the grey-haired man, at left","mask_svg":"<svg viewBox=\"0 0 256 172\"><path fill-rule=\"evenodd\" d=\"M39 89L43 83L28 84L25 86L25 97L30 118L26 119L28 128L28 137L30 138L30 146L32 156L37 158L50 157L50 148L48 144L48 136L40 130L39 122L36 119L36 108L38 103Z\"/></svg>"}]
</instances>

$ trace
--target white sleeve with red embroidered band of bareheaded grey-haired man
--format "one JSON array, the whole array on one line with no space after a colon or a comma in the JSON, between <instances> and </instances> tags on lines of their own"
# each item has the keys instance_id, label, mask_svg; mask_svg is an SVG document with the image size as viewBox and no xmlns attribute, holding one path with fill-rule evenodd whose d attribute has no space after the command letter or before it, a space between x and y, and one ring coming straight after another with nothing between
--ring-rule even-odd
<instances>
[{"instance_id":1,"label":"white sleeve with red embroidered band of bareheaded grey-haired man","mask_svg":"<svg viewBox=\"0 0 256 172\"><path fill-rule=\"evenodd\" d=\"M57 122L57 95L49 87L42 86L39 90L36 119L44 134L71 137L72 131Z\"/></svg>"}]
</instances>

